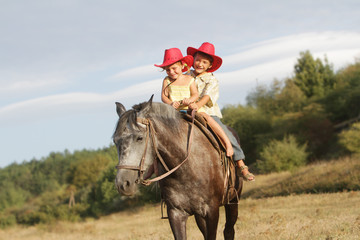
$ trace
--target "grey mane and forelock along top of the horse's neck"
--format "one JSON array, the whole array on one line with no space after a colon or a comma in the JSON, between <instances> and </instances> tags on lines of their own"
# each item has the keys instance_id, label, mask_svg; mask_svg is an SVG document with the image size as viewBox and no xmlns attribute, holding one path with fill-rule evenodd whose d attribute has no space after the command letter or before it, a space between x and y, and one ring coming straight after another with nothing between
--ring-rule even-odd
<instances>
[{"instance_id":1,"label":"grey mane and forelock along top of the horse's neck","mask_svg":"<svg viewBox=\"0 0 360 240\"><path fill-rule=\"evenodd\" d=\"M120 134L128 126L131 131L140 129L137 123L137 117L156 118L166 124L178 123L181 119L181 114L172 106L161 102L143 102L136 104L132 109L123 113L116 125L112 138Z\"/></svg>"}]
</instances>

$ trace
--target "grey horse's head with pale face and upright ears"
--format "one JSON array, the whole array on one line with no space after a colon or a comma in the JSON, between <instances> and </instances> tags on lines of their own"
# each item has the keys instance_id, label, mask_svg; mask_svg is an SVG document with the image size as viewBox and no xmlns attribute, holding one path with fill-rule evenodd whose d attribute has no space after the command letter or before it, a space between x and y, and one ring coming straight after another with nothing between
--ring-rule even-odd
<instances>
[{"instance_id":1,"label":"grey horse's head with pale face and upright ears","mask_svg":"<svg viewBox=\"0 0 360 240\"><path fill-rule=\"evenodd\" d=\"M113 141L119 162L115 184L119 193L127 196L136 193L137 183L143 181L143 175L154 159L149 122L144 117L151 105L152 97L128 111L121 103L116 103L119 120Z\"/></svg>"}]
</instances>

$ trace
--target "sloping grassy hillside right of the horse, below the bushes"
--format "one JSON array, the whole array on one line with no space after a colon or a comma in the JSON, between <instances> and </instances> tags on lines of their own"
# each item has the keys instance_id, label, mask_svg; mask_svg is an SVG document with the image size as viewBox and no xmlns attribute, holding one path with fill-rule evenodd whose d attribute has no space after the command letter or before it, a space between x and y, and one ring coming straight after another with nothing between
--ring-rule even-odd
<instances>
[{"instance_id":1,"label":"sloping grassy hillside right of the horse, below the bushes","mask_svg":"<svg viewBox=\"0 0 360 240\"><path fill-rule=\"evenodd\" d=\"M246 184L243 198L264 198L300 193L360 190L360 158L347 157L318 162L294 172L258 175Z\"/></svg>"}]
</instances>

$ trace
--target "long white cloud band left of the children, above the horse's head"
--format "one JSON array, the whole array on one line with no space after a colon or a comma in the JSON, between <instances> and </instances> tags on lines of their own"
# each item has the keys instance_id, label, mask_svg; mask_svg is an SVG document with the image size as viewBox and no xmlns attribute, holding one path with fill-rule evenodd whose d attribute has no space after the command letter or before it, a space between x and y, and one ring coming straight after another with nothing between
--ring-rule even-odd
<instances>
[{"instance_id":1,"label":"long white cloud band left of the children, above the horse's head","mask_svg":"<svg viewBox=\"0 0 360 240\"><path fill-rule=\"evenodd\" d=\"M132 85L108 94L73 92L9 104L0 108L0 124L18 124L59 116L102 112L115 101L130 106L128 99L144 101L151 94L160 92L161 80L151 80Z\"/></svg>"}]
</instances>

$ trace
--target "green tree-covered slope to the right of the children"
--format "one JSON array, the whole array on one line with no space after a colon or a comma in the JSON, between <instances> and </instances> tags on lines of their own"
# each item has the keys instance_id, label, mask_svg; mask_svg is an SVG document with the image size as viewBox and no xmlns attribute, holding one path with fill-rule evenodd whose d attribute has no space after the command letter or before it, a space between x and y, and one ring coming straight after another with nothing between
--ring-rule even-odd
<instances>
[{"instance_id":1,"label":"green tree-covered slope to the right of the children","mask_svg":"<svg viewBox=\"0 0 360 240\"><path fill-rule=\"evenodd\" d=\"M292 77L258 85L245 106L222 111L240 136L247 164L267 173L359 152L359 103L359 60L335 73L326 56L305 51Z\"/></svg>"}]
</instances>

